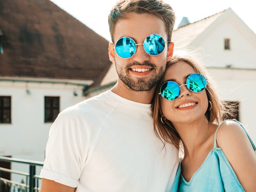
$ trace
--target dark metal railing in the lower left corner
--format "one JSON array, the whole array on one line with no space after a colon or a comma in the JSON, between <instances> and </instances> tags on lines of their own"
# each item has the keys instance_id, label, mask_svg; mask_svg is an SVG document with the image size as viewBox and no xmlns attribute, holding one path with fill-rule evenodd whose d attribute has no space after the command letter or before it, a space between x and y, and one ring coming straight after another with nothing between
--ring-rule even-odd
<instances>
[{"instance_id":1,"label":"dark metal railing in the lower left corner","mask_svg":"<svg viewBox=\"0 0 256 192\"><path fill-rule=\"evenodd\" d=\"M11 163L22 163L29 165L29 173L15 171L0 167L0 191L1 192L38 192L40 191L39 179L42 179L39 175L36 175L36 166L43 167L41 161L29 161L24 159L16 159L10 157L0 156L0 161ZM1 173L18 174L25 176L25 182L16 182L1 177Z\"/></svg>"}]
</instances>

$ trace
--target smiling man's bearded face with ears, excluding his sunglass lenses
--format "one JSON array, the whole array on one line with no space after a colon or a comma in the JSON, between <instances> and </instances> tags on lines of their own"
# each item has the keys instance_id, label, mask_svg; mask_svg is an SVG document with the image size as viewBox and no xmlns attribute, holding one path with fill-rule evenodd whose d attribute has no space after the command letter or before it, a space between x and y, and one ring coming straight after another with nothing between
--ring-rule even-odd
<instances>
[{"instance_id":1,"label":"smiling man's bearded face with ears, excluding his sunglass lenses","mask_svg":"<svg viewBox=\"0 0 256 192\"><path fill-rule=\"evenodd\" d=\"M164 22L148 13L128 13L125 19L119 20L115 26L114 43L121 37L132 38L136 44L143 43L150 34L159 34L166 42L167 34ZM130 58L121 58L110 44L110 59L116 65L119 81L134 91L149 91L162 78L166 61L171 60L173 44L169 49L165 44L164 51L151 56L146 53L143 45L137 45L136 53Z\"/></svg>"}]
</instances>

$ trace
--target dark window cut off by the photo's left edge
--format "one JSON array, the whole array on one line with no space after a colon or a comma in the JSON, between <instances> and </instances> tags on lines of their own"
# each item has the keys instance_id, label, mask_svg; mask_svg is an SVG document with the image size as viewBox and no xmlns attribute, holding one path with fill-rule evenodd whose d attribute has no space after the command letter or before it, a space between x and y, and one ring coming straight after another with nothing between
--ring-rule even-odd
<instances>
[{"instance_id":1,"label":"dark window cut off by the photo's left edge","mask_svg":"<svg viewBox=\"0 0 256 192\"><path fill-rule=\"evenodd\" d=\"M10 96L0 96L0 123L11 123Z\"/></svg>"}]
</instances>

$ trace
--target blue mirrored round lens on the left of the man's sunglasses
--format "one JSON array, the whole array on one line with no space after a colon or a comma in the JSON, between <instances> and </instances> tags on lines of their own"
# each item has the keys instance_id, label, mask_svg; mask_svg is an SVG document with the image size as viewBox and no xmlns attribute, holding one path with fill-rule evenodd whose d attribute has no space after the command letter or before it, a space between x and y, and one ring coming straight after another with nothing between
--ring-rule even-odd
<instances>
[{"instance_id":1,"label":"blue mirrored round lens on the left of the man's sunglasses","mask_svg":"<svg viewBox=\"0 0 256 192\"><path fill-rule=\"evenodd\" d=\"M136 45L131 38L123 37L117 41L115 50L121 58L130 58L135 54Z\"/></svg>"}]
</instances>

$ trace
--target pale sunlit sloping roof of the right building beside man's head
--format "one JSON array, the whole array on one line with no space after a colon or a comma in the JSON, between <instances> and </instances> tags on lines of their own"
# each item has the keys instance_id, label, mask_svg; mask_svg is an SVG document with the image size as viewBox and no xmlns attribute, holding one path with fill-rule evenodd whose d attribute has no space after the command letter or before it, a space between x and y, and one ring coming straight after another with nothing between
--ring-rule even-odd
<instances>
[{"instance_id":1,"label":"pale sunlit sloping roof of the right building beside man's head","mask_svg":"<svg viewBox=\"0 0 256 192\"><path fill-rule=\"evenodd\" d=\"M224 11L174 30L172 35L174 46L179 47L189 45L205 29L207 29L207 27L216 21L216 19L218 19L224 13Z\"/></svg>"}]
</instances>

